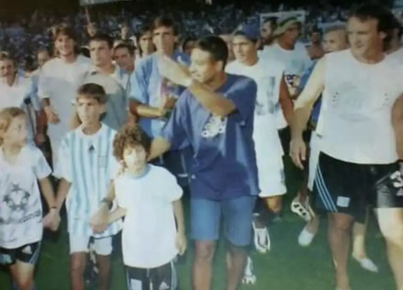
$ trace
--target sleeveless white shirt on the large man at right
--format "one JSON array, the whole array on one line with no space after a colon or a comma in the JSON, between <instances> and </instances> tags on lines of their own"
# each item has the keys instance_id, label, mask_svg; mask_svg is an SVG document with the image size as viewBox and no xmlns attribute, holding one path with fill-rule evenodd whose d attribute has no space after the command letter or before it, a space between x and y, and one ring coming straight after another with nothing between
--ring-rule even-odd
<instances>
[{"instance_id":1,"label":"sleeveless white shirt on the large man at right","mask_svg":"<svg viewBox=\"0 0 403 290\"><path fill-rule=\"evenodd\" d=\"M395 162L391 112L403 93L403 65L388 57L376 64L362 63L349 49L324 57L325 84L316 127L321 152L356 164Z\"/></svg>"}]
</instances>

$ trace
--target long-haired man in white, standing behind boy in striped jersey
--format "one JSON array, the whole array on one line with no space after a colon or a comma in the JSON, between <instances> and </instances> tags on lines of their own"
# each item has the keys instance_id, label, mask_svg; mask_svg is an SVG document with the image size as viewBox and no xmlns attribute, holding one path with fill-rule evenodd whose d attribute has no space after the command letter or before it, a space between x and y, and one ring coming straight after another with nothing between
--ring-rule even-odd
<instances>
[{"instance_id":1,"label":"long-haired man in white, standing behind boy in striped jersey","mask_svg":"<svg viewBox=\"0 0 403 290\"><path fill-rule=\"evenodd\" d=\"M76 36L72 28L57 27L54 42L59 56L44 64L38 84L38 95L48 120L53 164L60 141L71 127L77 89L91 67L89 58L76 54Z\"/></svg>"}]
</instances>

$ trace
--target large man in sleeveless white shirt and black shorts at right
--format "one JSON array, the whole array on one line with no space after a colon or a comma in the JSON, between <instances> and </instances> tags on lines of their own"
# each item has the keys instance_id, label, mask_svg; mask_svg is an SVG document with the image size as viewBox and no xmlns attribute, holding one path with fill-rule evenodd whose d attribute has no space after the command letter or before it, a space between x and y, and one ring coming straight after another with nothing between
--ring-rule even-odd
<instances>
[{"instance_id":1,"label":"large man in sleeveless white shirt and black shorts at right","mask_svg":"<svg viewBox=\"0 0 403 290\"><path fill-rule=\"evenodd\" d=\"M305 159L305 128L322 93L316 127L320 154L313 183L317 210L328 213L336 288L350 290L350 228L368 205L386 239L396 289L403 289L403 65L385 57L393 27L382 6L363 4L348 20L350 49L318 61L295 103L293 160ZM348 68L348 69L346 69Z\"/></svg>"}]
</instances>

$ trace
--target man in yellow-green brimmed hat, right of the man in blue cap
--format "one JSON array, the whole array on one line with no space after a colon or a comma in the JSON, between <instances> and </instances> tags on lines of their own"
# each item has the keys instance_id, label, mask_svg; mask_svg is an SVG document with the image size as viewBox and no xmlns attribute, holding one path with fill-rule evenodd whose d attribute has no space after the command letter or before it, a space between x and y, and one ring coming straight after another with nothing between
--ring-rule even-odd
<instances>
[{"instance_id":1,"label":"man in yellow-green brimmed hat, right of the man in blue cap","mask_svg":"<svg viewBox=\"0 0 403 290\"><path fill-rule=\"evenodd\" d=\"M305 45L298 42L301 26L301 22L295 17L279 19L273 32L275 42L260 54L262 59L276 59L285 65L284 75L292 98L296 97L300 77L312 64ZM277 122L283 150L288 154L291 141L290 128L279 106Z\"/></svg>"}]
</instances>

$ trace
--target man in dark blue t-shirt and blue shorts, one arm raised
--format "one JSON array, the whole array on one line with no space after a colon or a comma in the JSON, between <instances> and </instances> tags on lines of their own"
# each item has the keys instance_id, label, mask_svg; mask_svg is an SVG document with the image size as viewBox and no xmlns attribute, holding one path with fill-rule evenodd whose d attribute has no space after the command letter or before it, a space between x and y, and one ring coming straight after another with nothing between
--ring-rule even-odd
<instances>
[{"instance_id":1,"label":"man in dark blue t-shirt and blue shorts, one arm raised","mask_svg":"<svg viewBox=\"0 0 403 290\"><path fill-rule=\"evenodd\" d=\"M252 139L256 83L227 75L226 43L201 38L192 51L190 73L171 58L160 58L160 73L186 87L171 118L154 139L150 159L170 149L191 148L191 237L195 240L193 288L210 289L221 217L229 242L228 286L238 289L251 241L259 193Z\"/></svg>"}]
</instances>

